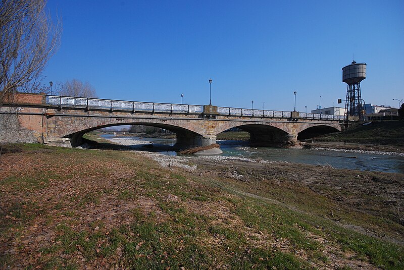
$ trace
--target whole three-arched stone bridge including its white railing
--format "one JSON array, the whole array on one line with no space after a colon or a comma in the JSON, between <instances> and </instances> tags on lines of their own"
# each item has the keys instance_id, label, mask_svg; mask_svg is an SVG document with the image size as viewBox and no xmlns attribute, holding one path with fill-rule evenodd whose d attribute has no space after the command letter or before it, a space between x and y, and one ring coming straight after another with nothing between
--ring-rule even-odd
<instances>
[{"instance_id":1,"label":"whole three-arched stone bridge including its white railing","mask_svg":"<svg viewBox=\"0 0 404 270\"><path fill-rule=\"evenodd\" d=\"M213 105L183 105L95 98L15 94L13 106L4 102L0 116L16 119L25 136L48 145L75 147L83 134L119 125L146 125L170 130L176 146L189 148L216 142L216 135L237 127L250 133L255 145L295 144L314 134L341 131L342 116L299 112L236 109ZM17 123L15 123L17 124ZM27 135L28 134L28 135ZM0 134L1 135L1 134ZM19 135L0 141L18 141ZM10 137L10 136L9 136ZM14 139L13 139L14 138Z\"/></svg>"}]
</instances>

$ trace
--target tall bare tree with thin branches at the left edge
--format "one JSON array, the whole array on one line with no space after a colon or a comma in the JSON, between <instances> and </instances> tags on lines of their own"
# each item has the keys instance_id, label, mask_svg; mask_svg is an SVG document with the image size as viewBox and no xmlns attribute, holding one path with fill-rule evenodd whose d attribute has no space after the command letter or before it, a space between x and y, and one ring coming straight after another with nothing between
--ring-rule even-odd
<instances>
[{"instance_id":1,"label":"tall bare tree with thin branches at the left edge","mask_svg":"<svg viewBox=\"0 0 404 270\"><path fill-rule=\"evenodd\" d=\"M59 48L62 23L55 25L45 6L46 0L1 2L0 105L17 90L38 88L40 74Z\"/></svg>"}]
</instances>

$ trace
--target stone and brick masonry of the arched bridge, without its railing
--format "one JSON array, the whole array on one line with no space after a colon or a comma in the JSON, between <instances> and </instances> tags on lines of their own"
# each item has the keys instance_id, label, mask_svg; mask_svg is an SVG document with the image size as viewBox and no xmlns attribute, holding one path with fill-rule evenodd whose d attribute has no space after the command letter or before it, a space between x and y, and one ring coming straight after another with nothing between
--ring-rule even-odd
<instances>
[{"instance_id":1,"label":"stone and brick masonry of the arched bridge, without its railing","mask_svg":"<svg viewBox=\"0 0 404 270\"><path fill-rule=\"evenodd\" d=\"M40 142L75 147L83 134L117 125L149 125L177 134L179 148L206 146L216 142L216 135L233 127L251 134L251 142L274 144L297 141L297 135L309 128L322 127L341 131L343 123L330 120L297 118L258 118L218 115L217 107L204 106L204 113L151 113L83 108L45 104L44 94L17 94L15 105L0 107L0 120L13 116L14 122L0 126L0 142ZM17 132L19 130L19 132ZM6 135L7 134L7 135ZM14 135L15 134L15 135Z\"/></svg>"}]
</instances>

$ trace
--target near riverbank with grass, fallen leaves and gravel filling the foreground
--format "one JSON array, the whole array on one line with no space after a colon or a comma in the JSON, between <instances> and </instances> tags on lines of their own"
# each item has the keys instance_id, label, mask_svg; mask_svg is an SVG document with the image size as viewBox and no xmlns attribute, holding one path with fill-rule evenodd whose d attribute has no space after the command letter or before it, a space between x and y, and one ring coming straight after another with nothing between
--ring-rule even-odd
<instances>
[{"instance_id":1,"label":"near riverbank with grass, fallen leaves and gravel filling the foreground","mask_svg":"<svg viewBox=\"0 0 404 270\"><path fill-rule=\"evenodd\" d=\"M3 145L4 268L404 267L404 175Z\"/></svg>"}]
</instances>

